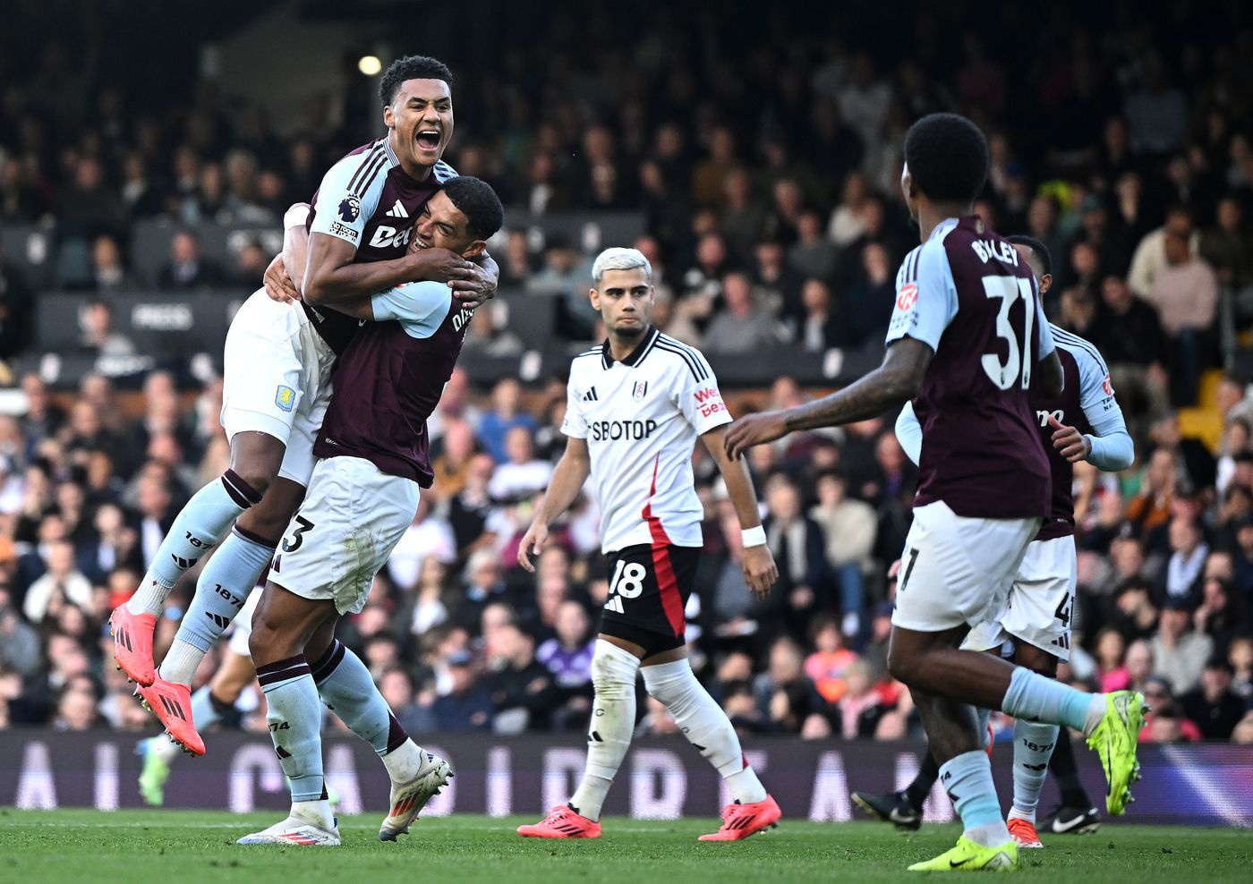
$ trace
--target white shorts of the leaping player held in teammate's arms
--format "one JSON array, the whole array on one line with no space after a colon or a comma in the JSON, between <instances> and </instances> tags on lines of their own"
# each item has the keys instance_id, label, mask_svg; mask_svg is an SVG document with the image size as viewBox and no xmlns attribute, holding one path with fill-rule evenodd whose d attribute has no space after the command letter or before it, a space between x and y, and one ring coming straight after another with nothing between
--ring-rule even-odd
<instances>
[{"instance_id":1,"label":"white shorts of the leaping player held in teammate's arms","mask_svg":"<svg viewBox=\"0 0 1253 884\"><path fill-rule=\"evenodd\" d=\"M259 432L287 451L278 475L308 487L313 439L331 401L335 351L299 304L258 289L236 313L223 349L222 427L227 438Z\"/></svg>"}]
</instances>

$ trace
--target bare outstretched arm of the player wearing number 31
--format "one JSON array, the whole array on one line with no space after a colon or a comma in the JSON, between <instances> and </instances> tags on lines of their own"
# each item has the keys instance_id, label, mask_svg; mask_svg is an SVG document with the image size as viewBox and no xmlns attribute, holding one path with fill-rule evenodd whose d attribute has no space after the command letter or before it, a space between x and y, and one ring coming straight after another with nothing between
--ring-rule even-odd
<instances>
[{"instance_id":1,"label":"bare outstretched arm of the player wearing number 31","mask_svg":"<svg viewBox=\"0 0 1253 884\"><path fill-rule=\"evenodd\" d=\"M887 348L883 364L838 393L784 411L742 417L727 431L727 453L739 457L754 445L773 442L797 429L836 427L877 417L917 396L931 364L931 348L911 337Z\"/></svg>"}]
</instances>

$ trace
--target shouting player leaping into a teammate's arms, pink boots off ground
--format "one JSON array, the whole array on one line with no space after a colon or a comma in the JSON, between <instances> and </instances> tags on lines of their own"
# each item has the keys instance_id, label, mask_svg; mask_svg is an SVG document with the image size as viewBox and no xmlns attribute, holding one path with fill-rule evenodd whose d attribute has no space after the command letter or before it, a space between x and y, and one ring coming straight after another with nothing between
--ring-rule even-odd
<instances>
[{"instance_id":1,"label":"shouting player leaping into a teammate's arms, pink boots off ground","mask_svg":"<svg viewBox=\"0 0 1253 884\"><path fill-rule=\"evenodd\" d=\"M392 64L380 85L387 134L331 167L312 210L288 212L288 233L309 232L306 303L281 303L258 290L239 308L223 354L231 468L183 507L139 590L113 612L118 666L139 682L144 705L170 738L194 755L204 754L198 729L221 717L221 704L207 691L193 700L192 679L243 609L304 496L333 363L358 328L327 308L415 280L447 283L469 306L495 289L499 273L486 255L475 263L446 249L407 253L413 220L456 174L440 159L452 136L451 84L452 74L436 59L413 55ZM158 674L157 615L175 581L223 535Z\"/></svg>"}]
</instances>

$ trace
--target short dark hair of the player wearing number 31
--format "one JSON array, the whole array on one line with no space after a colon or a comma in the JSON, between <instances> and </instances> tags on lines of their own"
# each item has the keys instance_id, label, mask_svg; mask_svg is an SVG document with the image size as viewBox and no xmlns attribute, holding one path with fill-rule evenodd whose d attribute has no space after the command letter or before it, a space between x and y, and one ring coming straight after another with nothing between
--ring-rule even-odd
<instances>
[{"instance_id":1,"label":"short dark hair of the player wearing number 31","mask_svg":"<svg viewBox=\"0 0 1253 884\"><path fill-rule=\"evenodd\" d=\"M933 203L974 203L987 180L987 139L957 114L928 114L905 135L913 183Z\"/></svg>"}]
</instances>

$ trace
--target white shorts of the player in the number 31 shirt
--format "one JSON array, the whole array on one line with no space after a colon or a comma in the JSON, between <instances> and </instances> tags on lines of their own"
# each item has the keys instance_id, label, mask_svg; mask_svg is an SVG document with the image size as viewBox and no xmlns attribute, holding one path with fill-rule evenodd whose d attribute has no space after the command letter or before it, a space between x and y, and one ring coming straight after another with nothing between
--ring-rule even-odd
<instances>
[{"instance_id":1,"label":"white shorts of the player in the number 31 shirt","mask_svg":"<svg viewBox=\"0 0 1253 884\"><path fill-rule=\"evenodd\" d=\"M901 553L892 624L942 632L991 620L1040 518L967 518L944 501L915 508Z\"/></svg>"}]
</instances>

